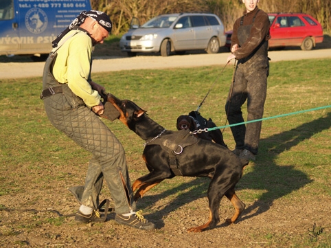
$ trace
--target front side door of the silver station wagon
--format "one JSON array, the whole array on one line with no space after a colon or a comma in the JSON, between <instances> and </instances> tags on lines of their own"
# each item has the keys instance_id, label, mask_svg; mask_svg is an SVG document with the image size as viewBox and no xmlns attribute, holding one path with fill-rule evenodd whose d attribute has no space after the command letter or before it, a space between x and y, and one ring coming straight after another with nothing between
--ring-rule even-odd
<instances>
[{"instance_id":1,"label":"front side door of the silver station wagon","mask_svg":"<svg viewBox=\"0 0 331 248\"><path fill-rule=\"evenodd\" d=\"M172 38L174 49L176 51L194 49L194 36L190 16L181 17L174 25L174 38Z\"/></svg>"}]
</instances>

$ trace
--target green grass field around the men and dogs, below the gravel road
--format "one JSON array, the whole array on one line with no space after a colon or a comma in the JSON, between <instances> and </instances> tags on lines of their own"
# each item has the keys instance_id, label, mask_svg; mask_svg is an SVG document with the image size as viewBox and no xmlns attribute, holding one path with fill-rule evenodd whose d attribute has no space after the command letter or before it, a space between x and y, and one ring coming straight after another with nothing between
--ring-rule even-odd
<instances>
[{"instance_id":1,"label":"green grass field around the men and dogs, below the gravel road","mask_svg":"<svg viewBox=\"0 0 331 248\"><path fill-rule=\"evenodd\" d=\"M330 64L331 59L271 63L264 117L330 106ZM212 117L218 126L226 124L224 106L233 68L227 67L220 74L221 69L199 67L118 71L93 74L92 78L118 98L133 100L165 128L175 130L176 118L196 110L212 86L200 112L204 117ZM51 218L55 221L49 221L47 216L20 221L17 213L15 221L10 221L3 209L47 209L48 204L69 213L74 212L77 205L70 203L68 206L68 201L73 202L73 199L65 193L65 188L83 183L85 169L82 170L82 165L86 168L90 157L89 153L78 148L47 120L43 101L39 99L41 81L41 78L0 79L0 247L27 245L23 242L23 237L31 238L34 232L45 225L52 229L59 228L58 225L67 225L60 218ZM246 109L243 111L245 116ZM126 150L131 180L146 174L147 170L141 159L144 141L118 120L104 122ZM237 187L240 199L248 206L240 223L249 223L253 218L269 214L269 222L275 221L275 227L270 227L266 232L250 227L249 235L244 238L247 243L242 247L330 247L330 127L331 108L263 122L257 161L247 166ZM225 128L223 135L225 143L233 149L230 129ZM185 203L196 200L192 195L202 194L205 197L206 183L205 179L176 177L153 188L150 197L142 199L139 207L148 214L153 214L156 211L155 204L162 205L176 198L177 203L170 207L171 211L168 210L167 214L176 213L176 210L185 207ZM187 191L191 193L187 194ZM181 197L183 194L186 197ZM62 195L65 196L62 198ZM102 190L102 195L109 196L107 189ZM159 199L162 199L161 203ZM206 201L205 198L205 208ZM283 210L273 212L273 204L282 206ZM191 208L192 205L188 205L188 210L185 211L190 212ZM231 210L231 206L228 208ZM207 214L205 215L207 218ZM293 224L286 222L286 226L280 227L281 216L293 218ZM176 219L176 215L172 218ZM200 219L199 222L203 220ZM172 221L176 223L175 220ZM308 229L312 229L314 223L322 232L317 235L316 229L316 235L310 240ZM171 222L169 225L171 226ZM175 227L176 224L172 228ZM29 232L26 231L27 228L30 229ZM299 231L295 232L297 228ZM233 228L231 230L234 232ZM210 234L212 231L214 230ZM113 232L119 231L115 229ZM203 234L205 233L207 235L207 232ZM161 234L165 235L159 231L159 235ZM49 240L56 244L54 238ZM165 240L166 238L159 247L172 247ZM260 243L256 245L252 240L260 240ZM240 244L241 241L237 241ZM122 240L122 245L124 243ZM93 247L87 244L88 247Z\"/></svg>"}]
</instances>

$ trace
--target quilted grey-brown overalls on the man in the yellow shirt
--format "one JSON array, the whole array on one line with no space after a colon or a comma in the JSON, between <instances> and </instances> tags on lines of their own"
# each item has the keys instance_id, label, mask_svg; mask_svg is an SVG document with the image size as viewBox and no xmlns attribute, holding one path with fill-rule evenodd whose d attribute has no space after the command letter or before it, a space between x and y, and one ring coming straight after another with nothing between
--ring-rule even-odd
<instances>
[{"instance_id":1,"label":"quilted grey-brown overalls on the man in the yellow shirt","mask_svg":"<svg viewBox=\"0 0 331 248\"><path fill-rule=\"evenodd\" d=\"M49 121L58 130L93 155L87 168L85 185L69 190L82 205L97 210L100 190L105 179L115 202L116 214L126 214L130 210L135 210L122 144L100 117L95 115L67 84L56 81L52 75L55 60L56 52L47 58L43 73L43 90L59 86L62 89L58 90L59 93L43 98L45 111Z\"/></svg>"}]
</instances>

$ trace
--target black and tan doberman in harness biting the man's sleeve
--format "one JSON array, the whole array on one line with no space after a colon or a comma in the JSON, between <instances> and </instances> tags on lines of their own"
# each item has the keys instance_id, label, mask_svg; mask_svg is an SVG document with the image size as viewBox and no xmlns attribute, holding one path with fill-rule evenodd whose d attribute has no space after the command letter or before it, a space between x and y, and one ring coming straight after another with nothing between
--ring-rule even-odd
<instances>
[{"instance_id":1,"label":"black and tan doberman in harness biting the man's sleeve","mask_svg":"<svg viewBox=\"0 0 331 248\"><path fill-rule=\"evenodd\" d=\"M239 158L224 146L198 139L189 131L167 131L134 102L119 100L111 94L108 96L108 101L119 111L118 119L146 141L143 158L149 173L133 183L133 192L137 190L135 200L178 173L183 177L209 177L209 220L187 231L203 232L215 227L220 222L219 206L224 195L236 209L227 223L237 220L245 205L234 188L242 177L242 169L249 164L247 159Z\"/></svg>"}]
</instances>

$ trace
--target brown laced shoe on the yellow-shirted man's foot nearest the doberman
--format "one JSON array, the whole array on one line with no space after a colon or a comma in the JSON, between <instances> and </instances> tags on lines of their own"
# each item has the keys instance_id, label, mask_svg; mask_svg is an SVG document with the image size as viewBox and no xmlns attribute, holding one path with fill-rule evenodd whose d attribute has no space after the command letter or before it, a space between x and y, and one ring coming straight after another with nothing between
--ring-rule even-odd
<instances>
[{"instance_id":1,"label":"brown laced shoe on the yellow-shirted man's foot nearest the doberman","mask_svg":"<svg viewBox=\"0 0 331 248\"><path fill-rule=\"evenodd\" d=\"M138 212L135 212L135 214L131 214L130 216L116 214L115 221L119 224L128 225L137 229L143 229L148 231L155 229L155 224L144 218L141 212L142 211L140 210Z\"/></svg>"}]
</instances>

